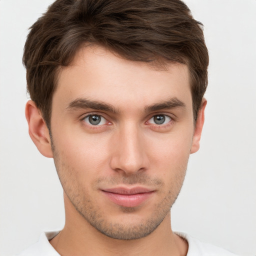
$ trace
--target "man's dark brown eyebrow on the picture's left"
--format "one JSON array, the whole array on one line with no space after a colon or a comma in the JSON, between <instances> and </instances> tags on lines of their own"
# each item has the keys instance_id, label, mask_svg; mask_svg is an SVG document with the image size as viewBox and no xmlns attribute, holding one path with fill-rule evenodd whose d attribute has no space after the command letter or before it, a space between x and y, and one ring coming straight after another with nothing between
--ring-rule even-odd
<instances>
[{"instance_id":1,"label":"man's dark brown eyebrow on the picture's left","mask_svg":"<svg viewBox=\"0 0 256 256\"><path fill-rule=\"evenodd\" d=\"M113 113L117 113L118 111L110 104L95 101L95 100L89 100L86 98L76 98L73 101L71 101L68 106L66 107L67 110L72 109L85 109L85 108L92 108L95 110L105 110Z\"/></svg>"}]
</instances>

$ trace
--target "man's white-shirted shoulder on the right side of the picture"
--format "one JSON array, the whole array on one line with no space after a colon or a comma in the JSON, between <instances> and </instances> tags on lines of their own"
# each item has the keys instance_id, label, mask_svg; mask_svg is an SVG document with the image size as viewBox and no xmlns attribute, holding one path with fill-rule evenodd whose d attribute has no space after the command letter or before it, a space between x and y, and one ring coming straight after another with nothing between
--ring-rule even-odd
<instances>
[{"instance_id":1,"label":"man's white-shirted shoulder on the right side of the picture","mask_svg":"<svg viewBox=\"0 0 256 256\"><path fill-rule=\"evenodd\" d=\"M175 233L188 242L187 256L237 256L228 250L197 240L186 233Z\"/></svg>"}]
</instances>

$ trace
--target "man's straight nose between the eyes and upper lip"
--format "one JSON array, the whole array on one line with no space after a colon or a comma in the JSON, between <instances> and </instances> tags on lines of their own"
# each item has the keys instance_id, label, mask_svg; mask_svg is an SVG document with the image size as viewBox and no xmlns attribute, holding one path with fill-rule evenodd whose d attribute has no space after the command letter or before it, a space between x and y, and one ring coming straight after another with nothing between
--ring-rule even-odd
<instances>
[{"instance_id":1,"label":"man's straight nose between the eyes and upper lip","mask_svg":"<svg viewBox=\"0 0 256 256\"><path fill-rule=\"evenodd\" d=\"M136 125L124 125L114 135L111 143L110 167L126 175L146 170L148 159L143 134Z\"/></svg>"}]
</instances>

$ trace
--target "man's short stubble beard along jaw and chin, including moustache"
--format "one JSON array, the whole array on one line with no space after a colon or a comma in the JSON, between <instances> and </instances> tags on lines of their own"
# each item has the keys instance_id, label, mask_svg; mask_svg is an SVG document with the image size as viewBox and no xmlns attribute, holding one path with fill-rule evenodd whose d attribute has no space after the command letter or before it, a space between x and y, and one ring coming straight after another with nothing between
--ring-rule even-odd
<instances>
[{"instance_id":1,"label":"man's short stubble beard along jaw and chin, including moustache","mask_svg":"<svg viewBox=\"0 0 256 256\"><path fill-rule=\"evenodd\" d=\"M129 222L125 224L123 222L114 222L107 219L107 215L105 215L106 213L103 212L102 208L93 202L93 198L82 184L79 183L78 180L75 180L75 175L72 176L75 170L68 166L63 159L60 159L53 144L52 149L60 183L74 208L92 227L100 233L114 239L139 239L152 233L169 213L172 204L179 194L186 172L186 166L180 166L182 170L180 170L178 177L176 177L171 184L172 189L168 190L165 197L154 205L154 210L147 219L143 219L140 223ZM159 187L164 185L163 181L157 178L152 179L147 174L139 172L132 176L118 178L118 182L115 178L109 180L107 177L101 177L96 182L101 182L104 179L114 184L157 184ZM120 206L120 211L126 214L132 214L136 211L136 207Z\"/></svg>"}]
</instances>

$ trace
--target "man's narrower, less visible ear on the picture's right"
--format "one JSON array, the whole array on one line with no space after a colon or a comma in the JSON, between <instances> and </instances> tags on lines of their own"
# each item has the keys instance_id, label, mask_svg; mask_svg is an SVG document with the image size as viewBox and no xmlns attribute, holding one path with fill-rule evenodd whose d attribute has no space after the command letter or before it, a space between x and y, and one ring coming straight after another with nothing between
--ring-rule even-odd
<instances>
[{"instance_id":1,"label":"man's narrower, less visible ear on the picture's right","mask_svg":"<svg viewBox=\"0 0 256 256\"><path fill-rule=\"evenodd\" d=\"M205 109L206 104L207 104L207 100L205 98L203 98L202 104L198 111L197 119L195 122L194 134L193 134L190 153L195 153L200 147L200 138L201 138L201 133L202 133L202 126L204 123L204 109Z\"/></svg>"}]
</instances>

